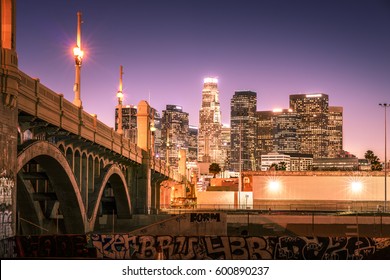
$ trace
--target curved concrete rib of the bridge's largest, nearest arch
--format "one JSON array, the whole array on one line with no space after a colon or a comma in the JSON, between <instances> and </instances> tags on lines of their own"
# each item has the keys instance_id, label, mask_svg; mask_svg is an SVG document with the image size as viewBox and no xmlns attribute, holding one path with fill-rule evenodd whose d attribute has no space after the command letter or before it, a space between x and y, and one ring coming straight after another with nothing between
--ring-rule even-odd
<instances>
[{"instance_id":1,"label":"curved concrete rib of the bridge's largest, nearest arch","mask_svg":"<svg viewBox=\"0 0 390 280\"><path fill-rule=\"evenodd\" d=\"M17 172L30 162L38 163L45 170L64 217L66 233L84 233L85 208L71 167L59 148L46 141L24 143L18 153Z\"/></svg>"}]
</instances>

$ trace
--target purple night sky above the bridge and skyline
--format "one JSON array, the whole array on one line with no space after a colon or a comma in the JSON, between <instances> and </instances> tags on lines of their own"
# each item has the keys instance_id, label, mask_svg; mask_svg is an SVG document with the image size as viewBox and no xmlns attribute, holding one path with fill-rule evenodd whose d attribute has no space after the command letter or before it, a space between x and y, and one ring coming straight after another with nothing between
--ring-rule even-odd
<instances>
[{"instance_id":1,"label":"purple night sky above the bridge and skyline","mask_svg":"<svg viewBox=\"0 0 390 280\"><path fill-rule=\"evenodd\" d=\"M83 107L109 126L123 65L125 104L180 105L193 125L206 76L219 79L227 124L235 90L256 91L261 111L288 108L290 94L326 93L344 107L344 149L384 159L389 1L17 0L20 69L70 101L77 11Z\"/></svg>"}]
</instances>

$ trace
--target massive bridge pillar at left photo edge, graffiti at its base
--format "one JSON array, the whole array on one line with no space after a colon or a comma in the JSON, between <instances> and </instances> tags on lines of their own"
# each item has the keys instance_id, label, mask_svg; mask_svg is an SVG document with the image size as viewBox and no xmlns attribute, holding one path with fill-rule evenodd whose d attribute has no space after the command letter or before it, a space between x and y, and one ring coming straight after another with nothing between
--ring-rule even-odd
<instances>
[{"instance_id":1,"label":"massive bridge pillar at left photo edge, graffiti at its base","mask_svg":"<svg viewBox=\"0 0 390 280\"><path fill-rule=\"evenodd\" d=\"M20 83L15 44L15 0L0 0L0 239L16 232L17 97ZM1 257L1 256L0 256Z\"/></svg>"}]
</instances>

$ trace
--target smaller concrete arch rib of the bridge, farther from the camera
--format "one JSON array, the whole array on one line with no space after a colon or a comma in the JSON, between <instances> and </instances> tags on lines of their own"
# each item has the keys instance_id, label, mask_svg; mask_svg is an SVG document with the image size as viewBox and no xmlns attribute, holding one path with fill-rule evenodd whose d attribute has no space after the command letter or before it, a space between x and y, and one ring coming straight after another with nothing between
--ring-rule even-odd
<instances>
[{"instance_id":1,"label":"smaller concrete arch rib of the bridge, farther from the camera","mask_svg":"<svg viewBox=\"0 0 390 280\"><path fill-rule=\"evenodd\" d=\"M117 217L124 219L131 218L131 202L125 175L118 165L109 164L102 169L99 179L95 181L96 191L93 197L91 197L88 211L90 230L93 230L95 227L99 207L101 206L104 191L108 185L111 186L113 191Z\"/></svg>"}]
</instances>

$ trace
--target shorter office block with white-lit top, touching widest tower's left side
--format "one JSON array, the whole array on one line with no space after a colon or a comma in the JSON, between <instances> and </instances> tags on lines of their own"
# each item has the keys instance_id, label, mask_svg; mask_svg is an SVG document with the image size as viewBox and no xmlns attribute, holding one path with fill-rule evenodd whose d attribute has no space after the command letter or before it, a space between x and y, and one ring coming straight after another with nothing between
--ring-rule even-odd
<instances>
[{"instance_id":1,"label":"shorter office block with white-lit top, touching widest tower's left side","mask_svg":"<svg viewBox=\"0 0 390 280\"><path fill-rule=\"evenodd\" d=\"M274 151L278 153L297 153L300 150L298 125L300 118L292 109L273 110L272 125Z\"/></svg>"}]
</instances>

